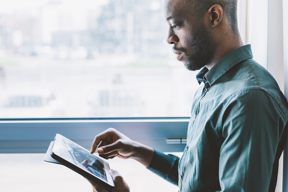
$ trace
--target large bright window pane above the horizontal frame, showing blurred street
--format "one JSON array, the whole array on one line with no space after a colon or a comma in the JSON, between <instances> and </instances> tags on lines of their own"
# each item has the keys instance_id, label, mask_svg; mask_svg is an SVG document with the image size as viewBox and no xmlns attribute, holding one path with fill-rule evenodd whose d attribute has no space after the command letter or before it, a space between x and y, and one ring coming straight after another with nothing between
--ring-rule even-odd
<instances>
[{"instance_id":1,"label":"large bright window pane above the horizontal frame, showing blurred street","mask_svg":"<svg viewBox=\"0 0 288 192\"><path fill-rule=\"evenodd\" d=\"M163 0L3 0L0 118L190 116Z\"/></svg>"}]
</instances>

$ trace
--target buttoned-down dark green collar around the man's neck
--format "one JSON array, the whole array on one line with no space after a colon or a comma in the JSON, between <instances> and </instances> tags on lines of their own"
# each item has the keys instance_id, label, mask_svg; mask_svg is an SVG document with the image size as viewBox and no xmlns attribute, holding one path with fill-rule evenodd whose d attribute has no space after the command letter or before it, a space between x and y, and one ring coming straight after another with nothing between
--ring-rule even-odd
<instances>
[{"instance_id":1,"label":"buttoned-down dark green collar around the man's neck","mask_svg":"<svg viewBox=\"0 0 288 192\"><path fill-rule=\"evenodd\" d=\"M237 63L253 58L251 52L251 45L244 45L238 47L224 56L220 61L218 61L210 70L206 67L203 67L202 70L196 75L196 79L198 83L206 82L210 84L210 86L215 83L219 77L221 77L224 73L226 73L229 69L231 69Z\"/></svg>"}]
</instances>

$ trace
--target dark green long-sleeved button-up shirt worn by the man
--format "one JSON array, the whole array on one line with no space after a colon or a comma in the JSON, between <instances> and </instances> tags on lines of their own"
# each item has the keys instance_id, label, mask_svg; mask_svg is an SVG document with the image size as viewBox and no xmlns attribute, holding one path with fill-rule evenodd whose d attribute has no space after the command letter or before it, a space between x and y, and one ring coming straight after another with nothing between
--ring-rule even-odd
<instances>
[{"instance_id":1,"label":"dark green long-sleeved button-up shirt worn by the man","mask_svg":"<svg viewBox=\"0 0 288 192\"><path fill-rule=\"evenodd\" d=\"M252 58L245 45L198 73L182 157L155 151L149 170L181 192L275 191L288 104Z\"/></svg>"}]
</instances>

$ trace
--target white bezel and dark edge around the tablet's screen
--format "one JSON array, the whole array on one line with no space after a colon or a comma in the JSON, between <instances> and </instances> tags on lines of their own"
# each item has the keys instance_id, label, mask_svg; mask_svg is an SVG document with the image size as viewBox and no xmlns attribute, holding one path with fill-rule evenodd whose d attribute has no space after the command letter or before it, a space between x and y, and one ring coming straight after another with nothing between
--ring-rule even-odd
<instances>
[{"instance_id":1,"label":"white bezel and dark edge around the tablet's screen","mask_svg":"<svg viewBox=\"0 0 288 192\"><path fill-rule=\"evenodd\" d=\"M56 134L55 139L54 139L54 143L53 143L53 147L51 150L51 157L53 157L54 159L56 159L57 161L61 162L62 164L64 164L65 166L67 166L68 168L72 169L73 171L81 174L82 176L86 177L87 179L91 180L92 182L100 185L101 187L103 187L104 189L113 189L114 188L114 182L113 182L113 178L109 173L109 164L106 160L104 160L101 157L97 157L94 154L96 158L100 159L103 164L104 164L104 168L105 168L105 172L106 172L106 177L107 177L107 181L103 180L102 178L97 177L96 175L88 172L87 170L84 170L83 168L81 168L80 166L71 163L70 161L66 160L64 157L62 157L60 155L60 149L61 149L61 145L62 145L62 140L63 138L69 140L68 138L60 135L60 134ZM70 140L71 141L71 140ZM73 141L71 141L73 142ZM90 153L90 151L88 151L87 149L81 147L80 145L78 145L77 143L73 142L76 146L84 149L85 151L87 151L88 153Z\"/></svg>"}]
</instances>

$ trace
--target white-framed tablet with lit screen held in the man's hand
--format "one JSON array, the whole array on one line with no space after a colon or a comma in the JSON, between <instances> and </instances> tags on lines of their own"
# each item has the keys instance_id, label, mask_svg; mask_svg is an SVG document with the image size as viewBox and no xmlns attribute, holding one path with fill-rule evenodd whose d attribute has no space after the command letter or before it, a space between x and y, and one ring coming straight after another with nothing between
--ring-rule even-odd
<instances>
[{"instance_id":1,"label":"white-framed tablet with lit screen held in the man's hand","mask_svg":"<svg viewBox=\"0 0 288 192\"><path fill-rule=\"evenodd\" d=\"M114 188L108 162L60 134L55 136L51 157L108 191Z\"/></svg>"}]
</instances>

